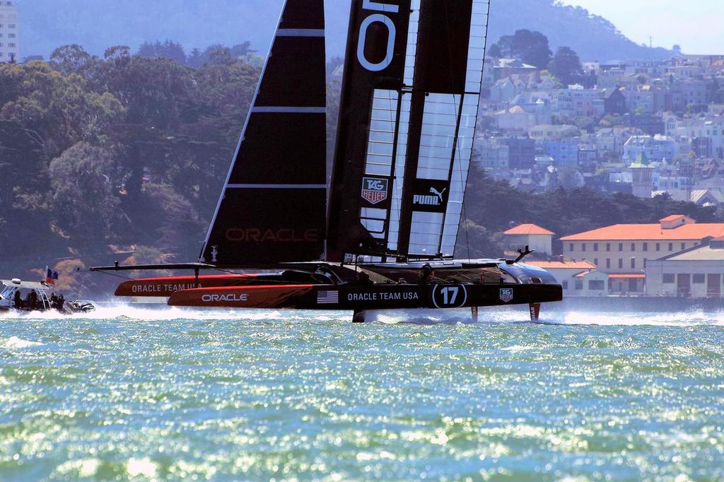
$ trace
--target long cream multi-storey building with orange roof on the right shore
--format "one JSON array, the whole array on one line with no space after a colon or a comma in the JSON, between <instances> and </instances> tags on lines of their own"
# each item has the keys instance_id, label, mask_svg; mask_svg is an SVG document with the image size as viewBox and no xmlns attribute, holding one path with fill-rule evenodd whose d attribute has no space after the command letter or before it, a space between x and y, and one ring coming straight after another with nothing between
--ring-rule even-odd
<instances>
[{"instance_id":1,"label":"long cream multi-storey building with orange roof on the right shore","mask_svg":"<svg viewBox=\"0 0 724 482\"><path fill-rule=\"evenodd\" d=\"M668 216L657 224L615 224L561 238L563 254L592 261L616 276L613 292L644 292L644 269L652 259L679 253L706 237L724 236L724 224L698 224L689 216Z\"/></svg>"}]
</instances>

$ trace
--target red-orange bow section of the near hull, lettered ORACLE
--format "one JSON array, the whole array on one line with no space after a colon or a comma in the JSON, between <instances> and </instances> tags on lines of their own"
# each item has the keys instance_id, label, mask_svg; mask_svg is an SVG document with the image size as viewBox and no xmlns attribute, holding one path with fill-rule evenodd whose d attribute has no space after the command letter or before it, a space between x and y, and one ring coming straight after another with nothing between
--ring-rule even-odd
<instances>
[{"instance_id":1,"label":"red-orange bow section of the near hull, lettered ORACLE","mask_svg":"<svg viewBox=\"0 0 724 482\"><path fill-rule=\"evenodd\" d=\"M185 289L169 298L171 306L203 308L295 308L313 284Z\"/></svg>"}]
</instances>

